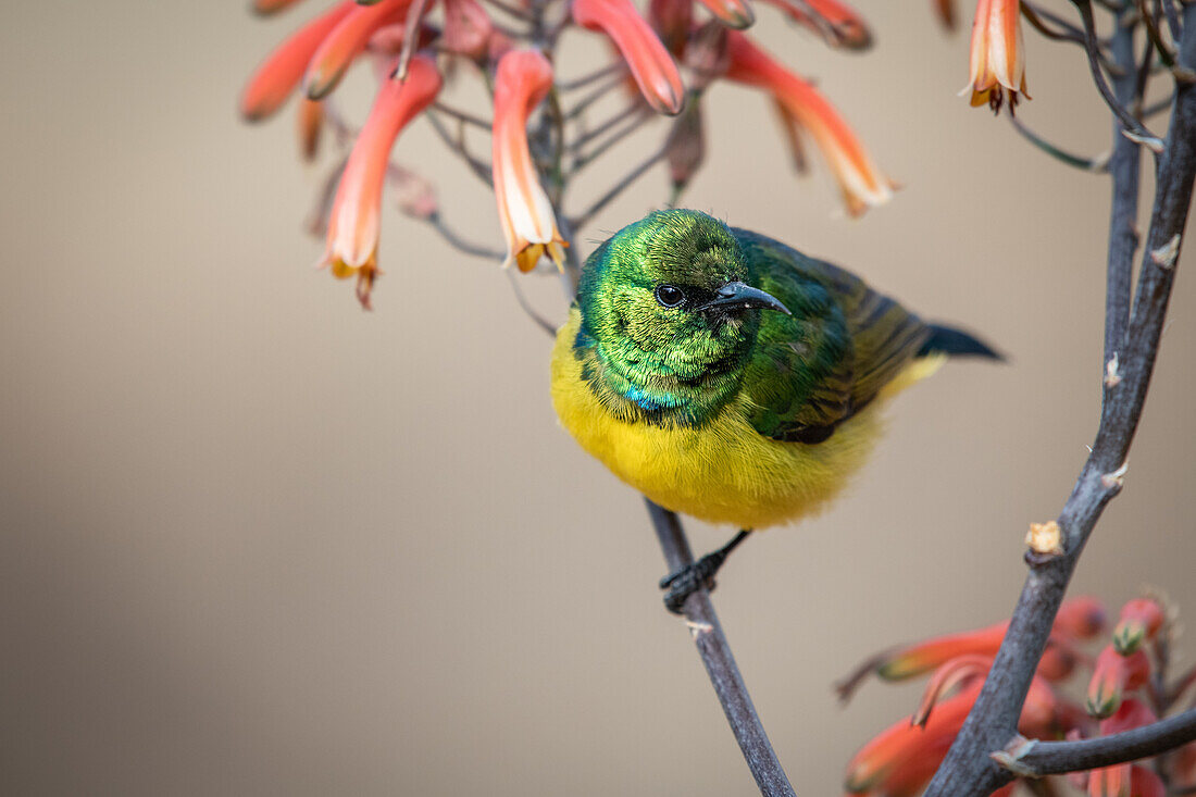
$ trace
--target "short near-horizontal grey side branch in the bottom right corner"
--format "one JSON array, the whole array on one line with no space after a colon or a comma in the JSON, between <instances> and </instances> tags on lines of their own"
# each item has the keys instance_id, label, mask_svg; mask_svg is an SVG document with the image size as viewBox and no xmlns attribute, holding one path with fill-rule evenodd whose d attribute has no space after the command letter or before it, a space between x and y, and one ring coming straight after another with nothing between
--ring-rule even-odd
<instances>
[{"instance_id":1,"label":"short near-horizontal grey side branch in the bottom right corner","mask_svg":"<svg viewBox=\"0 0 1196 797\"><path fill-rule=\"evenodd\" d=\"M1075 742L1020 738L1019 749L993 754L993 760L1020 777L1096 769L1148 759L1196 740L1196 708L1149 725Z\"/></svg>"}]
</instances>

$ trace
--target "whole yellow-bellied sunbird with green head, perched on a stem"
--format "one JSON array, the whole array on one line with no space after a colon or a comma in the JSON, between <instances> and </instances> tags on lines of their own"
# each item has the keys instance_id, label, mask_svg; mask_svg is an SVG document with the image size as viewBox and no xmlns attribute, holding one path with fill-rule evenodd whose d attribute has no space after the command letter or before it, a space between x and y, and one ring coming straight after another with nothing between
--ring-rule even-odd
<instances>
[{"instance_id":1,"label":"whole yellow-bellied sunbird with green head, perched on a stem","mask_svg":"<svg viewBox=\"0 0 1196 797\"><path fill-rule=\"evenodd\" d=\"M740 529L661 580L679 612L751 530L824 509L875 444L880 404L947 355L1000 359L779 241L658 211L586 260L553 404L652 501Z\"/></svg>"}]
</instances>

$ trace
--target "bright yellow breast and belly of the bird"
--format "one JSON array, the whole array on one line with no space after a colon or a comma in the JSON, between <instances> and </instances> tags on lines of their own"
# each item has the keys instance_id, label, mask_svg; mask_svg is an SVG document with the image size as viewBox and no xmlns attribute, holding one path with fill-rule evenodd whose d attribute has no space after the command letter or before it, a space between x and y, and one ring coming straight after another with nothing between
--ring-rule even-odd
<instances>
[{"instance_id":1,"label":"bright yellow breast and belly of the bird","mask_svg":"<svg viewBox=\"0 0 1196 797\"><path fill-rule=\"evenodd\" d=\"M748 422L740 397L700 428L663 428L611 415L581 378L573 354L574 309L553 351L553 404L561 424L616 476L657 504L713 523L762 529L822 510L864 464L881 431L879 404L935 370L915 361L880 397L823 443L780 443Z\"/></svg>"}]
</instances>

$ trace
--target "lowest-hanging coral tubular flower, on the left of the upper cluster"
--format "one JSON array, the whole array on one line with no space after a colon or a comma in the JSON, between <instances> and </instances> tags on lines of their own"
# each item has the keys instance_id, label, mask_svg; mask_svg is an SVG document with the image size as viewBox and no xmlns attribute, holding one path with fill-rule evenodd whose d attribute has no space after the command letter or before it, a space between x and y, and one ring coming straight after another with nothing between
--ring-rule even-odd
<instances>
[{"instance_id":1,"label":"lowest-hanging coral tubular flower, on the left of the upper cluster","mask_svg":"<svg viewBox=\"0 0 1196 797\"><path fill-rule=\"evenodd\" d=\"M422 55L411 59L405 81L383 83L336 188L323 263L334 276L358 278L358 299L367 310L378 273L382 187L390 150L403 127L435 99L440 85L435 65Z\"/></svg>"}]
</instances>

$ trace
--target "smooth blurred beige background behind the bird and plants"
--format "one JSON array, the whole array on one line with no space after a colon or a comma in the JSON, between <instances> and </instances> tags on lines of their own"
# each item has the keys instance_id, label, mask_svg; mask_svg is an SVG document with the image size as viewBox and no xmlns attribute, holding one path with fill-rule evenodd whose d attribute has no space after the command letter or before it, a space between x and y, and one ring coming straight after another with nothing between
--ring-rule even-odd
<instances>
[{"instance_id":1,"label":"smooth blurred beige background behind the bird and plants","mask_svg":"<svg viewBox=\"0 0 1196 797\"><path fill-rule=\"evenodd\" d=\"M289 118L250 128L233 107L316 5L260 22L240 2L5 4L0 791L751 793L660 608L643 507L557 427L549 342L506 276L397 213L376 312L310 269L321 170L297 163ZM1008 613L1026 524L1066 498L1100 378L1106 181L956 97L966 36L928 2L862 5L866 57L767 8L758 32L818 77L905 184L896 201L838 218L820 165L788 170L763 98L721 86L688 203L964 322L1012 363L953 365L903 396L850 495L721 579L806 795L836 793L915 699L868 685L844 711L837 676ZM1107 147L1079 49L1027 38L1025 118ZM426 124L396 156L437 177L454 224L500 242L493 199ZM584 237L663 196L653 172ZM555 280L529 291L563 316ZM1128 487L1075 590L1116 603L1151 582L1196 612L1186 275L1172 306ZM702 548L724 536L690 528Z\"/></svg>"}]
</instances>

